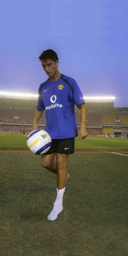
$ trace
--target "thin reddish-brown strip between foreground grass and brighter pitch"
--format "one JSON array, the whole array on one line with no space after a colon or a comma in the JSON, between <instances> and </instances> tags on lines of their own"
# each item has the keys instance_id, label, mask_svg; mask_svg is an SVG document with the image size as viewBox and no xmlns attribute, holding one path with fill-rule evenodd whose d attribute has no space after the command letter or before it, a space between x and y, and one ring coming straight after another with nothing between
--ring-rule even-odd
<instances>
[{"instance_id":1,"label":"thin reddish-brown strip between foreground grass and brighter pitch","mask_svg":"<svg viewBox=\"0 0 128 256\"><path fill-rule=\"evenodd\" d=\"M29 152L29 149L9 149L9 148L0 148L0 151L21 151L21 152ZM127 149L75 149L75 152L91 152L91 153L107 153L107 152L125 152L128 153Z\"/></svg>"}]
</instances>

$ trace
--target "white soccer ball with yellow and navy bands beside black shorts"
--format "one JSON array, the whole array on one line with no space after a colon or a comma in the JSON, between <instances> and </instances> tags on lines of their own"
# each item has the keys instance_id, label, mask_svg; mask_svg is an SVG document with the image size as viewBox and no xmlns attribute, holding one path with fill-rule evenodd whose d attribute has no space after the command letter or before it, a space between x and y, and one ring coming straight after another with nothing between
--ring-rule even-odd
<instances>
[{"instance_id":1,"label":"white soccer ball with yellow and navy bands beside black shorts","mask_svg":"<svg viewBox=\"0 0 128 256\"><path fill-rule=\"evenodd\" d=\"M34 130L29 133L27 138L27 146L29 150L36 155L46 153L52 144L52 139L48 132L44 130Z\"/></svg>"}]
</instances>

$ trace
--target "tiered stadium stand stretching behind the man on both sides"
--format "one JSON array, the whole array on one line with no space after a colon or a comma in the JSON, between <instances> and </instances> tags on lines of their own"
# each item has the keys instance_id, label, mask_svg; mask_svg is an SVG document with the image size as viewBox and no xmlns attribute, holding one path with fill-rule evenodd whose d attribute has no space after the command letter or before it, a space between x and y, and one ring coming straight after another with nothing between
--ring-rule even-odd
<instances>
[{"instance_id":1,"label":"tiered stadium stand stretching behind the man on both sides","mask_svg":"<svg viewBox=\"0 0 128 256\"><path fill-rule=\"evenodd\" d=\"M37 100L0 98L0 132L31 132ZM87 130L89 136L126 136L128 133L128 107L114 107L113 102L86 102ZM78 129L80 114L75 107ZM39 121L39 128L44 129L45 114Z\"/></svg>"}]
</instances>

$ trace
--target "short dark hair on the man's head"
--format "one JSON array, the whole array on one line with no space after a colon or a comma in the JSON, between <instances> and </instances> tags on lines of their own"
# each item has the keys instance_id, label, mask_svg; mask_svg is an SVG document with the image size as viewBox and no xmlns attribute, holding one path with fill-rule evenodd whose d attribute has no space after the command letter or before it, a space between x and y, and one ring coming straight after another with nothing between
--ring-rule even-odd
<instances>
[{"instance_id":1,"label":"short dark hair on the man's head","mask_svg":"<svg viewBox=\"0 0 128 256\"><path fill-rule=\"evenodd\" d=\"M52 49L48 49L48 50L44 50L41 55L39 56L39 60L47 60L47 59L50 59L50 60L53 60L53 61L56 61L58 60L58 57L57 57L57 54L56 52L54 52L54 50Z\"/></svg>"}]
</instances>

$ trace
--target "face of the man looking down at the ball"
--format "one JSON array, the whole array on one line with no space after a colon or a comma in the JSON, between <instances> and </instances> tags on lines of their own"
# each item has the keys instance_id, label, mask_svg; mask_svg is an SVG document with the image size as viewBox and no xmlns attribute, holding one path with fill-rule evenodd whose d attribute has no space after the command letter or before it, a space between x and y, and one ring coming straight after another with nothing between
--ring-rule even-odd
<instances>
[{"instance_id":1,"label":"face of the man looking down at the ball","mask_svg":"<svg viewBox=\"0 0 128 256\"><path fill-rule=\"evenodd\" d=\"M54 76L56 74L57 71L57 64L58 64L58 60L53 61L50 59L45 60L41 60L41 65L43 67L44 72L47 73L47 75L52 78L52 76Z\"/></svg>"}]
</instances>

